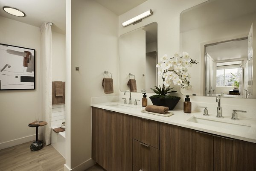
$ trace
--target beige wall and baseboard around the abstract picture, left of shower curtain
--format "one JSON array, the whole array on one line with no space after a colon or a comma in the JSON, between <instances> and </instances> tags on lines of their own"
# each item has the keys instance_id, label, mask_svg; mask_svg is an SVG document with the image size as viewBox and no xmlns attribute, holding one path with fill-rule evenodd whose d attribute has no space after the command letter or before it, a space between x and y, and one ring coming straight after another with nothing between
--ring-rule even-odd
<instances>
[{"instance_id":1,"label":"beige wall and baseboard around the abstract picture, left of shower curtain","mask_svg":"<svg viewBox=\"0 0 256 171\"><path fill-rule=\"evenodd\" d=\"M40 66L40 29L0 17L0 41L4 44L35 49L35 90L0 91L0 148L7 148L35 139L35 129L28 124L38 112Z\"/></svg>"}]
</instances>

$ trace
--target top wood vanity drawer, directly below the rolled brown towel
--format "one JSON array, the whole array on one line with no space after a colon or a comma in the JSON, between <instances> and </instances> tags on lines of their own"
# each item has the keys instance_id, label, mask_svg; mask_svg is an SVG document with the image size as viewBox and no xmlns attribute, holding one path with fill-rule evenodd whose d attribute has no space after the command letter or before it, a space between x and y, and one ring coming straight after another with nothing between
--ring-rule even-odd
<instances>
[{"instance_id":1,"label":"top wood vanity drawer, directly below the rolled brown towel","mask_svg":"<svg viewBox=\"0 0 256 171\"><path fill-rule=\"evenodd\" d=\"M133 139L160 149L160 124L157 121L133 117Z\"/></svg>"}]
</instances>

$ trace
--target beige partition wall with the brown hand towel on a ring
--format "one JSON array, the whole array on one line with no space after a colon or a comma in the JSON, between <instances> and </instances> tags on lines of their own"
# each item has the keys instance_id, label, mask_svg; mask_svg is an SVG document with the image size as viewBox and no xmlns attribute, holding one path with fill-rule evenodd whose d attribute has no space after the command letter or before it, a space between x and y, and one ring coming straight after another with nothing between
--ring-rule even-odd
<instances>
[{"instance_id":1,"label":"beige partition wall with the brown hand towel on a ring","mask_svg":"<svg viewBox=\"0 0 256 171\"><path fill-rule=\"evenodd\" d=\"M117 15L94 0L72 0L71 22L70 169L91 158L90 98L119 92ZM113 94L103 91L105 70L112 73Z\"/></svg>"}]
</instances>

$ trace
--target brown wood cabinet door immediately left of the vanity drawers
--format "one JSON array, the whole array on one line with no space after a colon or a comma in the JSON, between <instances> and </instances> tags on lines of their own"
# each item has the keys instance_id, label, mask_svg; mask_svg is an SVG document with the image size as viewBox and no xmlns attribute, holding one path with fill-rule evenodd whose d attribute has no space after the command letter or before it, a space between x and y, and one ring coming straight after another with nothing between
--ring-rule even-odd
<instances>
[{"instance_id":1,"label":"brown wood cabinet door immediately left of the vanity drawers","mask_svg":"<svg viewBox=\"0 0 256 171\"><path fill-rule=\"evenodd\" d=\"M132 171L132 116L108 113L109 171Z\"/></svg>"}]
</instances>

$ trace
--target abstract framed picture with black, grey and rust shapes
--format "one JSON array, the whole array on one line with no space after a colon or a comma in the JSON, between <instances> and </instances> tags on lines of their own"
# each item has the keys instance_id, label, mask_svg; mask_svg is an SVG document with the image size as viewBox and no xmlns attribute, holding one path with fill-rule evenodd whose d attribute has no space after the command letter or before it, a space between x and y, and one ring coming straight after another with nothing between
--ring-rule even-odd
<instances>
[{"instance_id":1,"label":"abstract framed picture with black, grey and rust shapes","mask_svg":"<svg viewBox=\"0 0 256 171\"><path fill-rule=\"evenodd\" d=\"M35 90L35 49L0 43L0 90Z\"/></svg>"}]
</instances>

